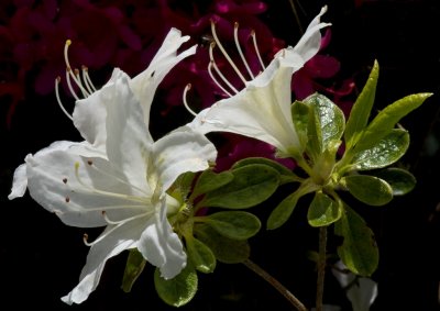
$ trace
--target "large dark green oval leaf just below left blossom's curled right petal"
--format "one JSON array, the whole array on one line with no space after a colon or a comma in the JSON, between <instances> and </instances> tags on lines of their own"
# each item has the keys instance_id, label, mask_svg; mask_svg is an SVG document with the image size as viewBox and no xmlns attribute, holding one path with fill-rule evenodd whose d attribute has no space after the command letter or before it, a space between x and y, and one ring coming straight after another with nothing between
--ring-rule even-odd
<instances>
[{"instance_id":1,"label":"large dark green oval leaf just below left blossom's curled right petal","mask_svg":"<svg viewBox=\"0 0 440 311\"><path fill-rule=\"evenodd\" d=\"M231 182L208 192L199 204L246 209L268 199L279 185L278 173L267 165L246 165L232 169L232 174Z\"/></svg>"}]
</instances>

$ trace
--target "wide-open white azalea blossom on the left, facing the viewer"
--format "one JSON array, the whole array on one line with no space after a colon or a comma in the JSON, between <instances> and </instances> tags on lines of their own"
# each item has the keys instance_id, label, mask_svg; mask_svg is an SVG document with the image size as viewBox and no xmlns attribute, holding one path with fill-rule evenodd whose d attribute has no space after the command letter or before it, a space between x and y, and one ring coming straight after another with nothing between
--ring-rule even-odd
<instances>
[{"instance_id":1,"label":"wide-open white azalea blossom on the left, facing the viewer","mask_svg":"<svg viewBox=\"0 0 440 311\"><path fill-rule=\"evenodd\" d=\"M133 79L114 69L100 90L76 102L74 124L86 141L55 142L28 155L15 170L9 199L29 189L67 225L106 226L92 242L85 235L90 251L79 284L62 298L68 304L86 300L106 262L125 249L138 248L165 279L186 266L183 244L167 220L179 202L166 190L180 174L208 168L217 152L188 127L154 142L148 120L157 85L195 53L193 46L177 55L188 38L172 29L148 68Z\"/></svg>"}]
</instances>

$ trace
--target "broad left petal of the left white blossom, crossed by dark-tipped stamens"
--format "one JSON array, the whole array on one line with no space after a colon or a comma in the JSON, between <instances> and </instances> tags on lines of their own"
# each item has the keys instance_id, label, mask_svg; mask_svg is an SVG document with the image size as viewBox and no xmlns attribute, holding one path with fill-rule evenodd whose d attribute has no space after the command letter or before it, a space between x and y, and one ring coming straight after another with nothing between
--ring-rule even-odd
<instances>
[{"instance_id":1,"label":"broad left petal of the left white blossom, crossed by dark-tipped stamens","mask_svg":"<svg viewBox=\"0 0 440 311\"><path fill-rule=\"evenodd\" d=\"M102 211L112 220L122 220L147 208L140 197L148 193L133 187L102 158L55 151L28 156L26 163L31 197L68 225L106 225Z\"/></svg>"}]
</instances>

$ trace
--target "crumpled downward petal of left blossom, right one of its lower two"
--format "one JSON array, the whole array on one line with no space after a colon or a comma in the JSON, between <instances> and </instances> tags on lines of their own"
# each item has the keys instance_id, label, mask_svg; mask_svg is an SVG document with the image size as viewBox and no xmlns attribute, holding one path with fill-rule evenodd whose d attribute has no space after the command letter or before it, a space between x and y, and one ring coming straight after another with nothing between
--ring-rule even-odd
<instances>
[{"instance_id":1,"label":"crumpled downward petal of left blossom, right one of its lower two","mask_svg":"<svg viewBox=\"0 0 440 311\"><path fill-rule=\"evenodd\" d=\"M166 219L165 199L157 202L158 211L150 219L138 249L152 265L161 269L165 279L174 278L186 266L186 254L177 234Z\"/></svg>"}]
</instances>

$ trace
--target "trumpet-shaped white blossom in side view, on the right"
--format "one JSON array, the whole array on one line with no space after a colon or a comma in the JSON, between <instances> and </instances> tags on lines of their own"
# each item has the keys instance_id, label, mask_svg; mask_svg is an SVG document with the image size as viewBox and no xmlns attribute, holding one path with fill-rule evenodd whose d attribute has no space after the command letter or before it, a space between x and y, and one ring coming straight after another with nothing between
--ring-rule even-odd
<instances>
[{"instance_id":1,"label":"trumpet-shaped white blossom in side view, on the right","mask_svg":"<svg viewBox=\"0 0 440 311\"><path fill-rule=\"evenodd\" d=\"M235 67L237 74L245 85L241 91L234 90L223 79L211 53L209 69L213 68L232 92L237 93L202 110L196 115L190 126L201 133L220 131L254 137L275 146L279 156L289 157L295 155L300 149L300 142L290 113L292 75L318 52L321 42L320 30L329 25L320 23L320 18L326 10L326 7L322 8L295 47L279 51L268 67L251 81L244 79L244 76L239 73L231 60L231 65ZM215 29L213 36L216 44L227 56L224 48L217 40ZM241 53L238 42L237 46L239 53ZM244 62L244 57L242 59ZM246 65L245 62L244 64ZM246 65L246 67L249 66ZM250 76L253 77L252 73L250 73ZM228 92L227 90L224 91Z\"/></svg>"}]
</instances>

